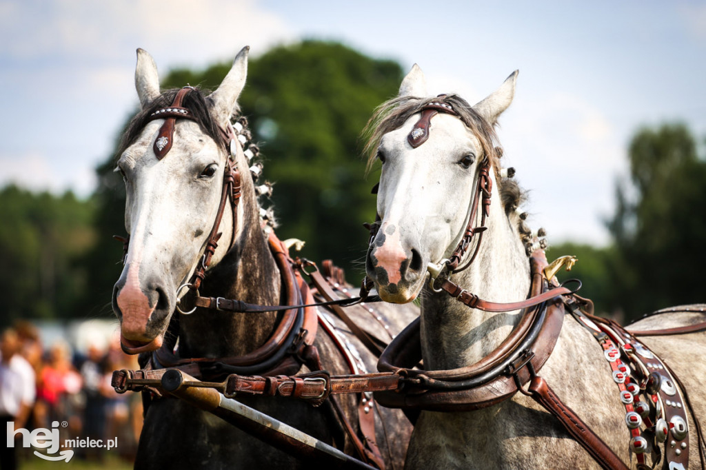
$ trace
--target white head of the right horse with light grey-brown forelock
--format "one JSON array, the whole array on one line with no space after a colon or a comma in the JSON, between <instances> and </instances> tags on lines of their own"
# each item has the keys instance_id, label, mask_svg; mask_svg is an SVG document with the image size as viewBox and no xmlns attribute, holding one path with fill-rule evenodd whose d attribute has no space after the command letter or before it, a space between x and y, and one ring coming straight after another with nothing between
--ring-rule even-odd
<instances>
[{"instance_id":1,"label":"white head of the right horse with light grey-brown forelock","mask_svg":"<svg viewBox=\"0 0 706 470\"><path fill-rule=\"evenodd\" d=\"M366 272L383 300L415 299L429 263L451 258L462 241L474 212L477 179L498 158L493 124L513 100L516 78L517 72L470 106L457 95L427 97L424 73L415 64L399 96L373 115L366 148L370 162L382 162L381 222ZM474 215L480 219L481 212Z\"/></svg>"}]
</instances>

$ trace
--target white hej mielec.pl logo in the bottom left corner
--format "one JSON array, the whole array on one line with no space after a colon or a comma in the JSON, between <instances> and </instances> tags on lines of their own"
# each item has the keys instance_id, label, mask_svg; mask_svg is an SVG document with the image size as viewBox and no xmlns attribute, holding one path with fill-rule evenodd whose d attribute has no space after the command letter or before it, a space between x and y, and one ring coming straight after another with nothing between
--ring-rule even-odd
<instances>
[{"instance_id":1,"label":"white hej mielec.pl logo in the bottom left corner","mask_svg":"<svg viewBox=\"0 0 706 470\"><path fill-rule=\"evenodd\" d=\"M64 421L61 426L66 427L68 423ZM16 437L21 437L20 442L22 447L36 447L37 449L46 449L47 454L42 454L35 450L35 455L45 460L64 460L68 462L73 457L73 447L105 447L107 450L114 449L118 446L118 438L113 439L66 439L64 445L61 446L59 438L59 421L52 422L52 429L37 428L32 431L25 428L15 429L15 423L10 421L7 423L7 447L15 447ZM59 447L64 447L64 450L59 452Z\"/></svg>"}]
</instances>

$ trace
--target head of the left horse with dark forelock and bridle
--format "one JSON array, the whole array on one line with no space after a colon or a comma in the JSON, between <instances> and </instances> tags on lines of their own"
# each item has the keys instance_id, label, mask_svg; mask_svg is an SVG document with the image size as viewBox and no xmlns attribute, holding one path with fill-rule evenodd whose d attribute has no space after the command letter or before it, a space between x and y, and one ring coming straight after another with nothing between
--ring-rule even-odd
<instances>
[{"instance_id":1,"label":"head of the left horse with dark forelock and bridle","mask_svg":"<svg viewBox=\"0 0 706 470\"><path fill-rule=\"evenodd\" d=\"M128 127L116 167L125 181L130 236L112 304L128 354L161 346L177 298L186 291L180 287L203 263L229 170L222 130L230 126L245 85L248 51L239 52L221 85L204 96L190 87L160 93L155 61L138 49L141 111ZM211 265L236 236L233 222L232 211L223 211L223 236Z\"/></svg>"}]
</instances>

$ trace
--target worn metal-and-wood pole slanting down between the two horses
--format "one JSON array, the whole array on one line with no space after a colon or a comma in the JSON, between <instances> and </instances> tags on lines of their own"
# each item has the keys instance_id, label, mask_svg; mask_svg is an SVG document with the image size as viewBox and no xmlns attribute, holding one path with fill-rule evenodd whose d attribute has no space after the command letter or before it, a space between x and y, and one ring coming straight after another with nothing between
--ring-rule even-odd
<instances>
[{"instance_id":1,"label":"worn metal-and-wood pole slanting down between the two horses","mask_svg":"<svg viewBox=\"0 0 706 470\"><path fill-rule=\"evenodd\" d=\"M302 433L297 428L277 421L234 399L224 397L208 387L189 387L184 382L196 380L177 369L162 375L162 388L197 408L208 411L250 435L267 442L297 459L333 464L342 469L372 469L375 467L344 454L335 447Z\"/></svg>"}]
</instances>

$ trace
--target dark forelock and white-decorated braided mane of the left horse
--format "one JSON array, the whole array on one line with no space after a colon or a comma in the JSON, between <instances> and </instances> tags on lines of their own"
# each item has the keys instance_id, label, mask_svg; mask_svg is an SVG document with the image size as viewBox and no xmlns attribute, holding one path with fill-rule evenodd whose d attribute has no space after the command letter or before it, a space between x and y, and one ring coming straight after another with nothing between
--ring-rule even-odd
<instances>
[{"instance_id":1,"label":"dark forelock and white-decorated braided mane of the left horse","mask_svg":"<svg viewBox=\"0 0 706 470\"><path fill-rule=\"evenodd\" d=\"M140 112L138 112L138 114L136 114L136 116L133 117L133 119L131 119L120 140L118 150L116 151L116 157L119 157L128 147L130 147L130 145L132 145L137 140L147 123L150 121L150 116L152 115L152 113L157 111L157 109L167 108L172 105L172 102L174 102L174 97L177 96L178 92L179 88L173 88L171 90L166 90L162 92L160 96L152 100L147 107L142 109ZM191 92L187 93L186 96L184 96L184 99L181 102L181 107L189 109L191 116L194 117L194 121L198 123L198 126L201 127L203 133L212 138L216 145L220 148L220 150L222 150L226 153L226 155L228 155L230 150L229 148L227 148L227 144L222 138L222 133L219 124L213 118L213 115L210 112L210 99L208 98L208 95L210 95L210 90L192 88ZM256 145L256 143L249 142L252 140L252 135L249 129L247 128L248 122L247 119L245 119L244 117L239 117L239 111L240 109L235 110L232 116L232 120L233 122L237 121L241 123L241 126L243 126L243 129L241 131L237 131L237 133L239 133L240 135L246 136L246 142L241 142L241 145L244 150L251 150L251 152L257 157L260 155L258 145ZM255 162L254 160L256 159L256 157L250 159L250 164L255 165L251 166L249 171L246 172L244 171L244 169L241 169L241 174L252 174L253 183L257 181L258 176L260 176L259 173L262 171L263 167L262 158L258 158L258 162ZM253 169L256 166L260 167L260 171L258 171L257 173L253 172ZM265 186L267 186L267 190L264 189ZM260 202L261 196L269 198L269 196L272 195L272 186L272 183L270 183L269 181L265 181L262 186L256 187L256 196L258 196L256 197L258 205L258 207L256 207L256 210L258 210L260 214L260 219L263 222L262 227L265 231L269 230L269 227L274 228L277 226L275 222L273 207L270 205L268 209L265 209L262 207L262 204ZM260 190L260 188L263 188L263 190Z\"/></svg>"}]
</instances>

